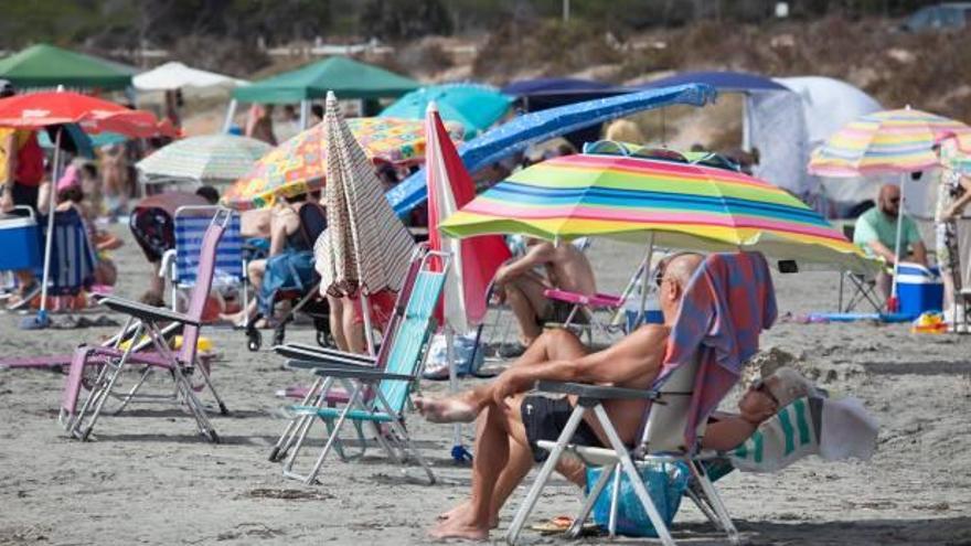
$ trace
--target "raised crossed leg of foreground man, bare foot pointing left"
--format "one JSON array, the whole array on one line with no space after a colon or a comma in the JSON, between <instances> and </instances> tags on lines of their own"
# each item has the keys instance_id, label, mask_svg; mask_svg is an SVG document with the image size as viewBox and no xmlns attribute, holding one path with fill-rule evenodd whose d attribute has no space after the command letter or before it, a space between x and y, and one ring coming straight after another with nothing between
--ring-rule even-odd
<instances>
[{"instance_id":1,"label":"raised crossed leg of foreground man, bare foot pointing left","mask_svg":"<svg viewBox=\"0 0 971 546\"><path fill-rule=\"evenodd\" d=\"M510 367L579 358L586 354L587 347L572 332L547 330ZM415 406L431 422L472 422L492 403L492 385L490 382L446 398L415 398Z\"/></svg>"}]
</instances>

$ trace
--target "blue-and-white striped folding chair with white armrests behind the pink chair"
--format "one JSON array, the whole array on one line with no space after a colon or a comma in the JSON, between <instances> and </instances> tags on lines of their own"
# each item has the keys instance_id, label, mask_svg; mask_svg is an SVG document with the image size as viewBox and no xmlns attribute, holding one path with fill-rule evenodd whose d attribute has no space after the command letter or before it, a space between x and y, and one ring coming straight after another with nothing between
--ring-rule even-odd
<instances>
[{"instance_id":1,"label":"blue-and-white striped folding chair with white armrests behind the pink chair","mask_svg":"<svg viewBox=\"0 0 971 546\"><path fill-rule=\"evenodd\" d=\"M163 260L171 264L169 270L172 282L172 310L178 310L180 292L195 286L203 235L218 210L216 206L181 206L175 210L173 217L175 248L170 250L172 254L167 253L169 256ZM245 309L249 292L246 265L243 261L243 236L239 229L239 215L234 213L216 246L213 288L241 288ZM164 270L163 266L162 271Z\"/></svg>"}]
</instances>

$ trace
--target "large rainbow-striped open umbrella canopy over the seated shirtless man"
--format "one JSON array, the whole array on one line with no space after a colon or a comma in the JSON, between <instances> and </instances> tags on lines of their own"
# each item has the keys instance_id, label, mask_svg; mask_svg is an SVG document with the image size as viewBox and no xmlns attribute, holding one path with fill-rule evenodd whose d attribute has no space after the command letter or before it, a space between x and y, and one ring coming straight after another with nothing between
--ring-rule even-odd
<instances>
[{"instance_id":1,"label":"large rainbow-striped open umbrella canopy over the seated shirtless man","mask_svg":"<svg viewBox=\"0 0 971 546\"><path fill-rule=\"evenodd\" d=\"M577 154L522 170L440 224L454 237L522 233L605 235L698 250L759 250L801 269L873 270L815 211L739 172L697 164Z\"/></svg>"}]
</instances>

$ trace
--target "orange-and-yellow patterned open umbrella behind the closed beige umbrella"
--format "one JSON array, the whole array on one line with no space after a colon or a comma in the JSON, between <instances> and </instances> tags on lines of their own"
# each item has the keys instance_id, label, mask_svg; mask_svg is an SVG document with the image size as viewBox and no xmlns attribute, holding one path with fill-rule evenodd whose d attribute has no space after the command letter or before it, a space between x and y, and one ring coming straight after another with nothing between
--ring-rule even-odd
<instances>
[{"instance_id":1,"label":"orange-and-yellow patterned open umbrella behind the closed beige umbrella","mask_svg":"<svg viewBox=\"0 0 971 546\"><path fill-rule=\"evenodd\" d=\"M353 118L344 124L372 161L410 164L425 159L422 120ZM450 126L449 132L461 140L460 126ZM278 195L299 195L322 188L326 133L324 124L318 124L273 149L226 191L223 201L241 211L260 208L271 205Z\"/></svg>"}]
</instances>

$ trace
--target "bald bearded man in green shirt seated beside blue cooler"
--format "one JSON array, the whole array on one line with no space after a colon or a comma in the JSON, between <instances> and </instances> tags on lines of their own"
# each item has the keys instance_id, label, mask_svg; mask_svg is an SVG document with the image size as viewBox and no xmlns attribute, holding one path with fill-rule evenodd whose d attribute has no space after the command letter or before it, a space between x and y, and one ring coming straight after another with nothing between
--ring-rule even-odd
<instances>
[{"instance_id":1,"label":"bald bearded man in green shirt seated beside blue cooler","mask_svg":"<svg viewBox=\"0 0 971 546\"><path fill-rule=\"evenodd\" d=\"M897 263L894 248L897 244L897 214L900 210L900 189L894 184L881 188L877 204L856 218L853 243L861 246L867 256L883 258L888 266ZM904 215L900 233L900 261L927 266L927 247L920 240L917 224ZM890 296L892 277L886 271L877 275L877 286L885 297Z\"/></svg>"}]
</instances>

